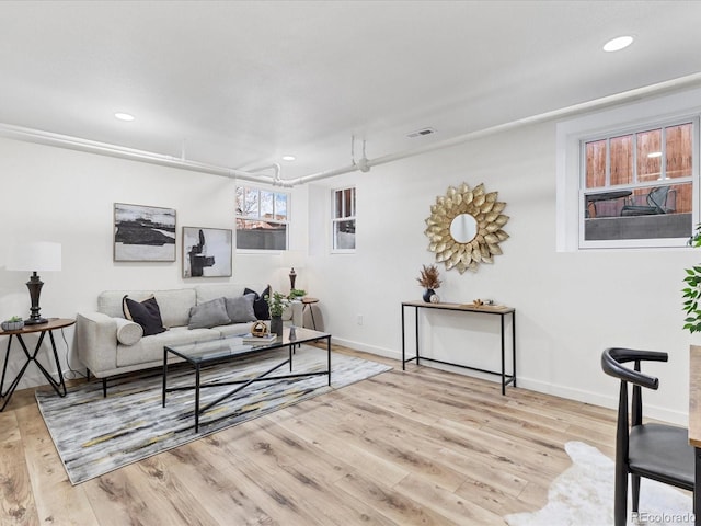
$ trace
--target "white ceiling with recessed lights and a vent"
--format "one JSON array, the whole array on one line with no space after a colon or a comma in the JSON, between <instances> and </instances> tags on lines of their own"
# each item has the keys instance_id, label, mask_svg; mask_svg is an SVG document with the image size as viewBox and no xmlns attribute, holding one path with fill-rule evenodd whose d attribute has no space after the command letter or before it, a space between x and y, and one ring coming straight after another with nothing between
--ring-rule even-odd
<instances>
[{"instance_id":1,"label":"white ceiling with recessed lights and a vent","mask_svg":"<svg viewBox=\"0 0 701 526\"><path fill-rule=\"evenodd\" d=\"M350 164L352 136L372 159L697 73L700 21L699 1L2 1L0 123L299 178Z\"/></svg>"}]
</instances>

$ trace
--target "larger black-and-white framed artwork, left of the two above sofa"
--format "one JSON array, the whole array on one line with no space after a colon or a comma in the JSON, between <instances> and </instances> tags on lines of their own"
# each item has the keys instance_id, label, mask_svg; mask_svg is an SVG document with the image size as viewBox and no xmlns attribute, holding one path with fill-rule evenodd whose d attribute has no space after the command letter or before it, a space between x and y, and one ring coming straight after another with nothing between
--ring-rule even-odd
<instances>
[{"instance_id":1,"label":"larger black-and-white framed artwork, left of the two above sofa","mask_svg":"<svg viewBox=\"0 0 701 526\"><path fill-rule=\"evenodd\" d=\"M114 261L175 261L175 209L115 203Z\"/></svg>"}]
</instances>

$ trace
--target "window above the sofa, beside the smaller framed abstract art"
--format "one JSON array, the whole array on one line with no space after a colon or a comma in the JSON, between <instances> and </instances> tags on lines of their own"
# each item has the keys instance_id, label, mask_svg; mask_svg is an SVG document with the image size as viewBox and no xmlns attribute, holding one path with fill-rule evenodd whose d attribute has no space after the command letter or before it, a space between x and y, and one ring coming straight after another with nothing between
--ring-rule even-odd
<instances>
[{"instance_id":1,"label":"window above the sofa, beside the smaller framed abstract art","mask_svg":"<svg viewBox=\"0 0 701 526\"><path fill-rule=\"evenodd\" d=\"M287 250L289 194L237 186L237 249Z\"/></svg>"}]
</instances>

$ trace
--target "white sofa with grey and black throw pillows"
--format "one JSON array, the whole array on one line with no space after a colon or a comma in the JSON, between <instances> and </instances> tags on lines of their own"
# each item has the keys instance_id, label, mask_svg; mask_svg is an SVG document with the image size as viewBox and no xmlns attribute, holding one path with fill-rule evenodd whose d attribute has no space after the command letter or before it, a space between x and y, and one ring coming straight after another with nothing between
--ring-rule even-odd
<instances>
[{"instance_id":1,"label":"white sofa with grey and black throw pillows","mask_svg":"<svg viewBox=\"0 0 701 526\"><path fill-rule=\"evenodd\" d=\"M211 328L188 329L191 309L217 298L238 298L245 288L262 294L267 285L222 284L198 285L172 290L107 290L97 297L96 312L79 312L76 317L76 345L78 358L97 378L163 365L163 346L192 342L206 342L222 336L251 331L253 321L228 323ZM125 319L123 299L136 301L153 296L158 302L163 327L159 334L142 336L141 325ZM283 315L285 324L302 327L302 304L292 302Z\"/></svg>"}]
</instances>

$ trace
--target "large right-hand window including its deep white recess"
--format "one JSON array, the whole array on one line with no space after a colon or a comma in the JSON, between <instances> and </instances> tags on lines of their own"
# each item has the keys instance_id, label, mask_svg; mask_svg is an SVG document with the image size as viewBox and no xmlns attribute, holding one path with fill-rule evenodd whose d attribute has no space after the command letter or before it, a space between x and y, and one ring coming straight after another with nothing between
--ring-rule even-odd
<instances>
[{"instance_id":1,"label":"large right-hand window including its deep white recess","mask_svg":"<svg viewBox=\"0 0 701 526\"><path fill-rule=\"evenodd\" d=\"M700 222L701 89L556 125L556 250L683 248Z\"/></svg>"}]
</instances>

